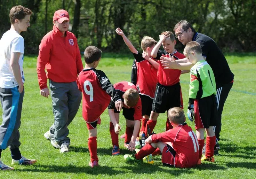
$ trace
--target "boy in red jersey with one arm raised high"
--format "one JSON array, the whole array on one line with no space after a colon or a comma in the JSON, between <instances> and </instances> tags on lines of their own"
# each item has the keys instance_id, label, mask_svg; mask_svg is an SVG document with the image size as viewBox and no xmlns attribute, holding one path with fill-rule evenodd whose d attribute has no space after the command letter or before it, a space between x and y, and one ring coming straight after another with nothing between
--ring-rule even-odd
<instances>
[{"instance_id":1,"label":"boy in red jersey with one arm raised high","mask_svg":"<svg viewBox=\"0 0 256 179\"><path fill-rule=\"evenodd\" d=\"M153 98L156 91L156 74L159 64L151 58L151 51L157 42L152 37L144 36L141 40L141 48L143 50L141 54L124 35L122 29L117 28L116 33L123 37L125 44L135 58L132 65L131 82L137 87L140 93L143 115L141 131L144 131L152 110Z\"/></svg>"}]
</instances>

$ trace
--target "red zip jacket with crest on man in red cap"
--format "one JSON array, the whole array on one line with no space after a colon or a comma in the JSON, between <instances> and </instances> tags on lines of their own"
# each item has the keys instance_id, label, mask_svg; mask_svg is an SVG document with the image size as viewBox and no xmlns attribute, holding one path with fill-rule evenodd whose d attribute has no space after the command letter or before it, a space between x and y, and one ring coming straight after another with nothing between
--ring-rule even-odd
<instances>
[{"instance_id":1,"label":"red zip jacket with crest on man in red cap","mask_svg":"<svg viewBox=\"0 0 256 179\"><path fill-rule=\"evenodd\" d=\"M66 34L61 37L62 32L53 26L39 45L37 77L40 89L47 88L47 78L54 82L75 82L77 74L83 70L76 36L68 31Z\"/></svg>"}]
</instances>

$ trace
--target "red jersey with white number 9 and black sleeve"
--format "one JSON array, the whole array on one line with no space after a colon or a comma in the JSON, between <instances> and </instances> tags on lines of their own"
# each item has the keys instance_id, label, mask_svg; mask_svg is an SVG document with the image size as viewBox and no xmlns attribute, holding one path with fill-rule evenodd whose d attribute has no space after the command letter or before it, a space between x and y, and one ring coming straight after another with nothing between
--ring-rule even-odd
<instances>
[{"instance_id":1,"label":"red jersey with white number 9 and black sleeve","mask_svg":"<svg viewBox=\"0 0 256 179\"><path fill-rule=\"evenodd\" d=\"M83 70L76 80L83 93L83 118L86 122L96 121L108 107L111 97L114 102L121 100L108 77L95 68Z\"/></svg>"}]
</instances>

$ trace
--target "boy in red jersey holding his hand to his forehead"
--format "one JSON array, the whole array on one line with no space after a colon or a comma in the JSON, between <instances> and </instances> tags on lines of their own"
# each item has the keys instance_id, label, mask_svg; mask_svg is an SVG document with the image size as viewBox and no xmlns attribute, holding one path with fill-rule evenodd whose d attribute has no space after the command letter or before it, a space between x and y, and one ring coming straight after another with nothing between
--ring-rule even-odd
<instances>
[{"instance_id":1,"label":"boy in red jersey holding his hand to his forehead","mask_svg":"<svg viewBox=\"0 0 256 179\"><path fill-rule=\"evenodd\" d=\"M183 109L183 100L180 87L180 74L181 70L170 70L164 69L160 62L161 56L169 57L172 56L173 59L185 58L185 56L175 50L175 36L171 31L165 31L159 35L160 40L156 46L151 51L151 56L158 60L159 68L157 71L157 85L155 97L153 100L152 111L150 114L147 126L152 132L156 126L156 120L159 113L165 113L172 107L180 107ZM163 45L164 51L159 50L160 46ZM148 127L146 127L145 134L148 134ZM169 119L166 120L165 129L171 129L172 125Z\"/></svg>"}]
</instances>

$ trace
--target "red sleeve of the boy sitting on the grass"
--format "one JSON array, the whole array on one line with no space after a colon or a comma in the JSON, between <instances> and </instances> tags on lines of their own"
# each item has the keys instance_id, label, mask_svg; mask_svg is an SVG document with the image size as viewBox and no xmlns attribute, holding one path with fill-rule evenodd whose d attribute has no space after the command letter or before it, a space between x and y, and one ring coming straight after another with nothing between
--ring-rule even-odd
<instances>
[{"instance_id":1,"label":"red sleeve of the boy sitting on the grass","mask_svg":"<svg viewBox=\"0 0 256 179\"><path fill-rule=\"evenodd\" d=\"M159 134L153 134L152 135L152 142L157 143L157 142L174 142L176 133L170 129L167 130L163 133Z\"/></svg>"}]
</instances>

